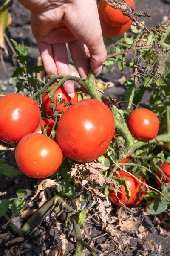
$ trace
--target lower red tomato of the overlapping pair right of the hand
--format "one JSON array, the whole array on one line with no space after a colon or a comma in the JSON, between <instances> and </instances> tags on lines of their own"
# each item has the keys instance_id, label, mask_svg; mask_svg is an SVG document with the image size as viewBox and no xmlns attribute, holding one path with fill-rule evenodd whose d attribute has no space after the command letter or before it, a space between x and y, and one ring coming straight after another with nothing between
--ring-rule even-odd
<instances>
[{"instance_id":1,"label":"lower red tomato of the overlapping pair right of the hand","mask_svg":"<svg viewBox=\"0 0 170 256\"><path fill-rule=\"evenodd\" d=\"M102 28L102 33L103 33L103 35L105 35L105 37L117 38L117 37L123 35L125 32L127 32L127 30L129 30L130 27L132 26L132 20L129 20L129 22L123 26L108 25L105 22L105 20L103 20L103 17L100 13L99 7L98 7L98 11L99 11L99 19L100 19L100 25Z\"/></svg>"}]
</instances>

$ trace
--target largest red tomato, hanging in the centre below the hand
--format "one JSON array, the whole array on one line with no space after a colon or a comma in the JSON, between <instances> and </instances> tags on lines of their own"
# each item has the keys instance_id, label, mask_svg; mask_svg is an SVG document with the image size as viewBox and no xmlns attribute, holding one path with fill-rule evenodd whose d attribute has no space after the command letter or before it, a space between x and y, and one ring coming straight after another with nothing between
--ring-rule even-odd
<instances>
[{"instance_id":1,"label":"largest red tomato, hanging in the centre below the hand","mask_svg":"<svg viewBox=\"0 0 170 256\"><path fill-rule=\"evenodd\" d=\"M105 153L114 131L110 109L96 99L83 99L62 114L57 123L56 139L67 157L90 162Z\"/></svg>"}]
</instances>

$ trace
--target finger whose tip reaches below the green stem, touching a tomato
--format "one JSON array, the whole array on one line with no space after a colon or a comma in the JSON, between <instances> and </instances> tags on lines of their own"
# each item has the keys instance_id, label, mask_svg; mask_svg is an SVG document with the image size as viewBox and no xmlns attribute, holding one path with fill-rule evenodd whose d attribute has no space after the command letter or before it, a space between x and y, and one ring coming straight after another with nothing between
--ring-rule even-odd
<instances>
[{"instance_id":1,"label":"finger whose tip reaches below the green stem, touching a tomato","mask_svg":"<svg viewBox=\"0 0 170 256\"><path fill-rule=\"evenodd\" d=\"M58 75L71 75L68 66L67 47L64 43L53 44L53 57L55 66L57 67ZM74 98L74 83L71 80L65 81L63 88L71 98Z\"/></svg>"}]
</instances>

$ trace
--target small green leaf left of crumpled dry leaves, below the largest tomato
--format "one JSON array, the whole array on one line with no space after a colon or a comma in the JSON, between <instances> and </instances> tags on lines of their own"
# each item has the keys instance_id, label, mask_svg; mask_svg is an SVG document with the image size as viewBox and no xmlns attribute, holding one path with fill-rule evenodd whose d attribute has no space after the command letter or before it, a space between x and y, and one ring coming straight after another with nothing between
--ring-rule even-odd
<instances>
[{"instance_id":1,"label":"small green leaf left of crumpled dry leaves, below the largest tomato","mask_svg":"<svg viewBox=\"0 0 170 256\"><path fill-rule=\"evenodd\" d=\"M71 184L70 180L63 179L59 186L57 186L58 192L62 192L63 195L68 197L75 197L76 189L75 186Z\"/></svg>"}]
</instances>

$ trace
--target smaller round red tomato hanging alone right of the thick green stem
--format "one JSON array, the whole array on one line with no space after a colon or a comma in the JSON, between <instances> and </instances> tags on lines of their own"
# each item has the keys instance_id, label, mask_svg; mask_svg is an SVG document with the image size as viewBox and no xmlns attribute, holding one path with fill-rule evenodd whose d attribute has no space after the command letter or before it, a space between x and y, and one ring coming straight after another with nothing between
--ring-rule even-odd
<instances>
[{"instance_id":1,"label":"smaller round red tomato hanging alone right of the thick green stem","mask_svg":"<svg viewBox=\"0 0 170 256\"><path fill-rule=\"evenodd\" d=\"M152 140L159 131L159 119L146 108L133 110L127 118L127 126L137 140Z\"/></svg>"}]
</instances>

